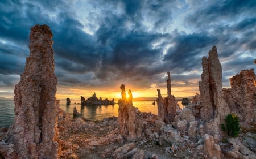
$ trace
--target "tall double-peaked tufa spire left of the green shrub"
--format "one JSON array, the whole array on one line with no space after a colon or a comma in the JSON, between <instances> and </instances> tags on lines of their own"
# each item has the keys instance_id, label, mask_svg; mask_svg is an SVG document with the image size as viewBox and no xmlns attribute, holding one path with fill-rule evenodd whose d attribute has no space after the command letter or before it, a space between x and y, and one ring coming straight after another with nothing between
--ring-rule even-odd
<instances>
[{"instance_id":1,"label":"tall double-peaked tufa spire left of the green shrub","mask_svg":"<svg viewBox=\"0 0 256 159\"><path fill-rule=\"evenodd\" d=\"M207 122L206 129L210 135L220 134L220 122L230 113L222 91L222 70L216 46L209 51L209 57L202 59L202 81L199 81L201 97L200 118Z\"/></svg>"}]
</instances>

